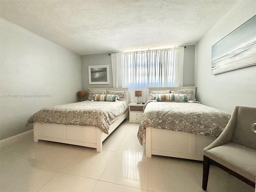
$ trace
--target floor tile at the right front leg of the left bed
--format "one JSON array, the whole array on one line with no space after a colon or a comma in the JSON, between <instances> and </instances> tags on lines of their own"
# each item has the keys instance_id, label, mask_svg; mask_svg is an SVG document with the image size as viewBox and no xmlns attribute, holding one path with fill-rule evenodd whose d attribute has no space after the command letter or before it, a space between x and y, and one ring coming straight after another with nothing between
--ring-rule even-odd
<instances>
[{"instance_id":1,"label":"floor tile at the right front leg of the left bed","mask_svg":"<svg viewBox=\"0 0 256 192\"><path fill-rule=\"evenodd\" d=\"M99 153L93 148L85 148L84 151L81 151L60 172L99 179L113 154L114 152L111 151L102 151Z\"/></svg>"}]
</instances>

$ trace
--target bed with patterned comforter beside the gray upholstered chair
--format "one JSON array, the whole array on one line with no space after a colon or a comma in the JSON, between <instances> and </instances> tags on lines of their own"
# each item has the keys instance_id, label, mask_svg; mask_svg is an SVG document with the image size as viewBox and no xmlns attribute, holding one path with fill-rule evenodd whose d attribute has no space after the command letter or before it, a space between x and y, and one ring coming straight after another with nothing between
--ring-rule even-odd
<instances>
[{"instance_id":1,"label":"bed with patterned comforter beside the gray upholstered chair","mask_svg":"<svg viewBox=\"0 0 256 192\"><path fill-rule=\"evenodd\" d=\"M149 92L159 90L174 93L186 90L193 96L196 93L196 87L149 88ZM224 130L230 114L194 99L188 102L146 102L138 130L140 144L146 147L146 157L153 154L203 160L203 149Z\"/></svg>"}]
</instances>

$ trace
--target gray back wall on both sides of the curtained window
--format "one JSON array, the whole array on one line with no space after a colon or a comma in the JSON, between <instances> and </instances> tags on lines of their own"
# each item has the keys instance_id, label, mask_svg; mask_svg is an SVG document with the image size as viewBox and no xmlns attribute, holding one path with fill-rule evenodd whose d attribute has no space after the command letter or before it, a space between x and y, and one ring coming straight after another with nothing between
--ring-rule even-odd
<instances>
[{"instance_id":1,"label":"gray back wall on both sides of the curtained window","mask_svg":"<svg viewBox=\"0 0 256 192\"><path fill-rule=\"evenodd\" d=\"M184 49L183 86L194 86L195 45L188 45ZM89 84L88 66L109 65L110 84ZM81 56L82 90L88 93L88 88L113 87L111 56L108 53ZM88 94L86 94L86 98Z\"/></svg>"}]
</instances>

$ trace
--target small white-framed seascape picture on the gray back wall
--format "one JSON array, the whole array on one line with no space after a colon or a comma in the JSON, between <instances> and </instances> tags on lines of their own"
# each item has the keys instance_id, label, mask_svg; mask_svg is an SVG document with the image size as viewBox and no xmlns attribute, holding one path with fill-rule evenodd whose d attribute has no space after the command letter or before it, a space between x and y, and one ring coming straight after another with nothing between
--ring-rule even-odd
<instances>
[{"instance_id":1,"label":"small white-framed seascape picture on the gray back wall","mask_svg":"<svg viewBox=\"0 0 256 192\"><path fill-rule=\"evenodd\" d=\"M109 84L109 66L88 66L89 84Z\"/></svg>"}]
</instances>

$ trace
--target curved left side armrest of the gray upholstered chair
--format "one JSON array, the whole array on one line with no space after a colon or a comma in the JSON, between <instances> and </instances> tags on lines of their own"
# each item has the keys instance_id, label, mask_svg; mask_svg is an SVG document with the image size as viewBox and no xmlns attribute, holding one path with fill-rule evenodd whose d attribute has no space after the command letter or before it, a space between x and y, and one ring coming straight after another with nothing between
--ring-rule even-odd
<instances>
[{"instance_id":1,"label":"curved left side armrest of the gray upholstered chair","mask_svg":"<svg viewBox=\"0 0 256 192\"><path fill-rule=\"evenodd\" d=\"M204 150L206 150L206 151L210 150L214 147L226 144L226 143L228 143L232 140L234 127L235 127L235 124L236 124L236 117L237 117L237 113L238 113L238 108L239 108L239 106L235 107L234 112L233 112L230 120L228 121L227 126L224 128L224 130L222 131L220 136L214 142L212 142L209 146L204 148Z\"/></svg>"}]
</instances>

